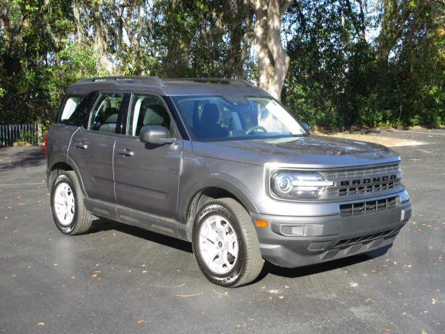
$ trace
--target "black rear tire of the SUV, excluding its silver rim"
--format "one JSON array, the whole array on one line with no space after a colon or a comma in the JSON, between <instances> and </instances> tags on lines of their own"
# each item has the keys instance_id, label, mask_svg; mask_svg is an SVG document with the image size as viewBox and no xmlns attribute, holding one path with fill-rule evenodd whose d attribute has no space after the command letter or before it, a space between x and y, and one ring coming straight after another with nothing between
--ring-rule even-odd
<instances>
[{"instance_id":1,"label":"black rear tire of the SUV, excluding its silver rim","mask_svg":"<svg viewBox=\"0 0 445 334\"><path fill-rule=\"evenodd\" d=\"M72 222L70 225L64 225L59 220L56 214L55 207L55 192L57 186L64 182L70 186L72 193L74 195L74 217L72 218ZM79 180L77 180L76 173L72 170L63 170L57 175L56 179L53 182L51 187L51 211L54 218L54 223L60 232L68 235L76 235L76 234L84 234L86 233L92 224L92 216L87 211L85 205L83 205L83 193L81 186L79 184Z\"/></svg>"}]
</instances>

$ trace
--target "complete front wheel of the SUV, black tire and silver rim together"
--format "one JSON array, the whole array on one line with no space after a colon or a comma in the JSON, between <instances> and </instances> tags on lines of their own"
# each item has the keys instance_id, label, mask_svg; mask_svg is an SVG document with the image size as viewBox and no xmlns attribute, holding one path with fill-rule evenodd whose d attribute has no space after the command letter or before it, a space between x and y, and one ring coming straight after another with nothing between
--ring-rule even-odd
<instances>
[{"instance_id":1,"label":"complete front wheel of the SUV, black tire and silver rim together","mask_svg":"<svg viewBox=\"0 0 445 334\"><path fill-rule=\"evenodd\" d=\"M192 244L202 273L212 283L225 287L246 285L263 268L252 219L232 198L204 205L193 225Z\"/></svg>"}]
</instances>

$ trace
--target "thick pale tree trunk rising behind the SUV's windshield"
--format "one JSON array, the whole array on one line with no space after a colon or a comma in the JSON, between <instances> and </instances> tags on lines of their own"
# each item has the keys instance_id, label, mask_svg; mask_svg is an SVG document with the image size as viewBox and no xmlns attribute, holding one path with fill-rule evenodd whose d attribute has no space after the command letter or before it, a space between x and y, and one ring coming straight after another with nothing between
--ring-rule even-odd
<instances>
[{"instance_id":1,"label":"thick pale tree trunk rising behind the SUV's windshield","mask_svg":"<svg viewBox=\"0 0 445 334\"><path fill-rule=\"evenodd\" d=\"M289 56L280 41L281 20L292 0L252 0L255 10L259 87L277 100L289 67Z\"/></svg>"}]
</instances>

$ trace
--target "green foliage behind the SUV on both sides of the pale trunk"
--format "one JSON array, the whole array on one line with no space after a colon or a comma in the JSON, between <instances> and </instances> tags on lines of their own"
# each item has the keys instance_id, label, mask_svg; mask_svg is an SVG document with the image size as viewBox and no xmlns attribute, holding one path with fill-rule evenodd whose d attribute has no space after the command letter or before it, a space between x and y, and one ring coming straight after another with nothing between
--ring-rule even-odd
<instances>
[{"instance_id":1,"label":"green foliage behind the SUV on both sides of the pale trunk","mask_svg":"<svg viewBox=\"0 0 445 334\"><path fill-rule=\"evenodd\" d=\"M282 101L312 127L443 125L444 7L294 1ZM249 1L0 0L0 10L0 123L49 124L84 77L258 80Z\"/></svg>"}]
</instances>

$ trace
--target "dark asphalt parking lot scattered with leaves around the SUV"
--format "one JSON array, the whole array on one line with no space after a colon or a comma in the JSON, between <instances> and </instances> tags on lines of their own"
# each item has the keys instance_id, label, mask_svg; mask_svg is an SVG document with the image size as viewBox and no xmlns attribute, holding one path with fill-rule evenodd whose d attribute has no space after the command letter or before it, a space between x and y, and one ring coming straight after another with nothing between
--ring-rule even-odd
<instances>
[{"instance_id":1,"label":"dark asphalt parking lot scattered with leaves around the SUV","mask_svg":"<svg viewBox=\"0 0 445 334\"><path fill-rule=\"evenodd\" d=\"M445 130L369 136L423 143L393 148L413 205L393 248L266 263L237 289L209 283L191 244L161 234L100 220L65 237L42 148L0 149L0 332L445 333Z\"/></svg>"}]
</instances>

